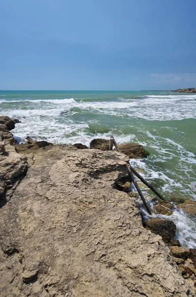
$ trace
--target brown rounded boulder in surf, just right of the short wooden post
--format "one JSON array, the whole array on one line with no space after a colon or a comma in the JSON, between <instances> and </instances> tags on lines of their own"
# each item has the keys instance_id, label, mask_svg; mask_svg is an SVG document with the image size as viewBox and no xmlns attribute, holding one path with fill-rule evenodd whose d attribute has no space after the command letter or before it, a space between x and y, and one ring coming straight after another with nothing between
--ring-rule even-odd
<instances>
[{"instance_id":1,"label":"brown rounded boulder in surf, just right of the short wooden post","mask_svg":"<svg viewBox=\"0 0 196 297\"><path fill-rule=\"evenodd\" d=\"M128 155L130 158L147 157L147 152L143 146L135 143L127 143L118 146L120 152Z\"/></svg>"}]
</instances>

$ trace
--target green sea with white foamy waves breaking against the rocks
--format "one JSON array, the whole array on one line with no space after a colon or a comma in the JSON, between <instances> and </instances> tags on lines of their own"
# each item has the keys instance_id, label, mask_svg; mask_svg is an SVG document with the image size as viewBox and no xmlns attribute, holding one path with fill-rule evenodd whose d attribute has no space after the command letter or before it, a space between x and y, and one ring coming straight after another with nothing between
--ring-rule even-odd
<instances>
[{"instance_id":1,"label":"green sea with white foamy waves breaking against the rocks","mask_svg":"<svg viewBox=\"0 0 196 297\"><path fill-rule=\"evenodd\" d=\"M136 142L150 153L131 164L167 200L196 200L196 94L169 91L0 91L0 115L18 118L18 143L30 136L53 144L94 138ZM153 208L153 193L139 183ZM140 198L141 209L147 216ZM174 203L174 202L173 202ZM175 203L174 203L175 205ZM176 238L196 248L196 216L175 209Z\"/></svg>"}]
</instances>

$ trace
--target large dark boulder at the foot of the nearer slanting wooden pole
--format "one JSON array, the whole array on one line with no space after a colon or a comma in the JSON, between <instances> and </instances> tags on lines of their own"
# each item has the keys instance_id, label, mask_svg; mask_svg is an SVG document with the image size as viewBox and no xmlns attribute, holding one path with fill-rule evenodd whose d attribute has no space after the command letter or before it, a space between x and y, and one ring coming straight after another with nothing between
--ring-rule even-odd
<instances>
[{"instance_id":1,"label":"large dark boulder at the foot of the nearer slanting wooden pole","mask_svg":"<svg viewBox=\"0 0 196 297\"><path fill-rule=\"evenodd\" d=\"M176 225L174 222L167 219L151 219L147 221L147 229L160 235L166 243L168 243L176 234Z\"/></svg>"}]
</instances>

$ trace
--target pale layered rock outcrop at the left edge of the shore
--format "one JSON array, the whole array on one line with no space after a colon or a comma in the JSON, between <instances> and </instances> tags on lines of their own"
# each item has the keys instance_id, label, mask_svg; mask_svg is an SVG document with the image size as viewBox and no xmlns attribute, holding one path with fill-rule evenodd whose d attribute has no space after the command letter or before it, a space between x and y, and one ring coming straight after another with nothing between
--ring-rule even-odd
<instances>
[{"instance_id":1,"label":"pale layered rock outcrop at the left edge of the shore","mask_svg":"<svg viewBox=\"0 0 196 297\"><path fill-rule=\"evenodd\" d=\"M6 154L0 155L0 206L12 195L12 188L27 172L26 157L18 154L15 148L6 145Z\"/></svg>"}]
</instances>

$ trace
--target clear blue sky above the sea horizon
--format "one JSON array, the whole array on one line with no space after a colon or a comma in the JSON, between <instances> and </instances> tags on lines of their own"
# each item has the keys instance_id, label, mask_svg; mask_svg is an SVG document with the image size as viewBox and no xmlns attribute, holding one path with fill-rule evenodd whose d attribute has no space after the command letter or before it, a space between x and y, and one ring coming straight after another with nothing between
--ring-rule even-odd
<instances>
[{"instance_id":1,"label":"clear blue sky above the sea horizon","mask_svg":"<svg viewBox=\"0 0 196 297\"><path fill-rule=\"evenodd\" d=\"M0 90L196 87L196 0L1 0Z\"/></svg>"}]
</instances>

